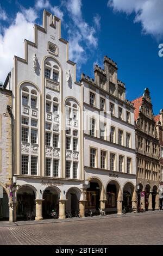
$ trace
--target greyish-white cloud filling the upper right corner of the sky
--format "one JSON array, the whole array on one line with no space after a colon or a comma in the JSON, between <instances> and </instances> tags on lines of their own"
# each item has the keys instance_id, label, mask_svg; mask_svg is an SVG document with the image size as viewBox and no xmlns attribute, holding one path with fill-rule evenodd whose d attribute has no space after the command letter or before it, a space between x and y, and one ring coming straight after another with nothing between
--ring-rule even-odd
<instances>
[{"instance_id":1,"label":"greyish-white cloud filling the upper right corner of the sky","mask_svg":"<svg viewBox=\"0 0 163 256\"><path fill-rule=\"evenodd\" d=\"M108 7L128 15L135 13L134 22L141 22L143 33L163 38L162 0L109 0Z\"/></svg>"}]
</instances>

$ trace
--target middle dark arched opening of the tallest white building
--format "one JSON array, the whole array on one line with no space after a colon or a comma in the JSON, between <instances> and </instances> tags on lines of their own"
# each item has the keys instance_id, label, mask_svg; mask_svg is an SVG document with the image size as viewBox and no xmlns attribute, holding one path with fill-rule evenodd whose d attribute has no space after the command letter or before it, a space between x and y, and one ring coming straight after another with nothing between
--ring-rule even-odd
<instances>
[{"instance_id":1,"label":"middle dark arched opening of the tallest white building","mask_svg":"<svg viewBox=\"0 0 163 256\"><path fill-rule=\"evenodd\" d=\"M52 218L52 210L56 210L59 215L59 191L56 187L47 187L43 191L42 216Z\"/></svg>"}]
</instances>

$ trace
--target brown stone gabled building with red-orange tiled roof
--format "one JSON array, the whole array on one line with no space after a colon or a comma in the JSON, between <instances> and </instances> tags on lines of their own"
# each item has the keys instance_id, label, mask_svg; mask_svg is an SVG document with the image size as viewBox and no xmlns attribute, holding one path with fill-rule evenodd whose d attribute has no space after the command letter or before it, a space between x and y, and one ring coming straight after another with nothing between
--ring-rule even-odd
<instances>
[{"instance_id":1,"label":"brown stone gabled building with red-orange tiled roof","mask_svg":"<svg viewBox=\"0 0 163 256\"><path fill-rule=\"evenodd\" d=\"M132 102L135 107L138 206L146 210L158 210L159 139L148 88L143 96Z\"/></svg>"}]
</instances>

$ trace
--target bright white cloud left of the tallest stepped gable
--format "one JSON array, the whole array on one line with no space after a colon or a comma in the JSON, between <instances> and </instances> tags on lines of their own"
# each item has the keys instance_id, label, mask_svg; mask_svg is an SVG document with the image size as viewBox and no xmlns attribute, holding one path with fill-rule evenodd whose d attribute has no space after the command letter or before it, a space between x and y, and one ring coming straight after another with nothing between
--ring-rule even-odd
<instances>
[{"instance_id":1,"label":"bright white cloud left of the tallest stepped gable","mask_svg":"<svg viewBox=\"0 0 163 256\"><path fill-rule=\"evenodd\" d=\"M29 14L29 13L28 13ZM30 15L28 15L29 18ZM34 20L33 20L34 21ZM33 22L22 13L17 13L15 21L0 34L0 80L5 81L14 66L14 55L24 58L24 39L33 41Z\"/></svg>"}]
</instances>

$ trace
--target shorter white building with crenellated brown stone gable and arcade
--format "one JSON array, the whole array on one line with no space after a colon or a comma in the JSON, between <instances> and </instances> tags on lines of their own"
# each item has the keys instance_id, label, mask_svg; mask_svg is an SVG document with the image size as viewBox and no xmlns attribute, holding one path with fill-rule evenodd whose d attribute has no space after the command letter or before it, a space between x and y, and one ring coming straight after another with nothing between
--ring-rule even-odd
<instances>
[{"instance_id":1,"label":"shorter white building with crenellated brown stone gable and arcade","mask_svg":"<svg viewBox=\"0 0 163 256\"><path fill-rule=\"evenodd\" d=\"M84 171L90 181L85 208L122 212L136 206L134 107L126 100L117 64L104 57L95 80L82 75L84 88Z\"/></svg>"}]
</instances>

